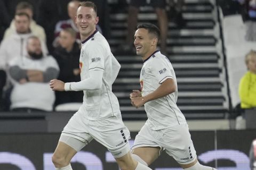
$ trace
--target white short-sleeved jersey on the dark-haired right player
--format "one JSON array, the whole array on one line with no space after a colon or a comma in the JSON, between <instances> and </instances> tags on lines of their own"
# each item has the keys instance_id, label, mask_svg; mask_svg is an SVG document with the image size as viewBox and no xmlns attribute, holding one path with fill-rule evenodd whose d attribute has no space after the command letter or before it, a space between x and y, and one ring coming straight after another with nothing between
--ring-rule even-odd
<instances>
[{"instance_id":1,"label":"white short-sleeved jersey on the dark-haired right player","mask_svg":"<svg viewBox=\"0 0 256 170\"><path fill-rule=\"evenodd\" d=\"M169 59L156 50L147 60L143 61L140 73L140 86L142 96L155 91L166 79L173 79L176 91L162 98L148 101L145 111L147 122L153 130L169 128L174 125L186 123L176 102L178 98L177 80Z\"/></svg>"}]
</instances>

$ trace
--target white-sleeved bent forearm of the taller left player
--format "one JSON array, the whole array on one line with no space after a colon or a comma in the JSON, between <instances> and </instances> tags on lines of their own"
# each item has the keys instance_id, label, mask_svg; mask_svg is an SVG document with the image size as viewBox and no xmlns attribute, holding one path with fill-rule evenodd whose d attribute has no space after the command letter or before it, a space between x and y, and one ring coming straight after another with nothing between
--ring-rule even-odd
<instances>
[{"instance_id":1,"label":"white-sleeved bent forearm of the taller left player","mask_svg":"<svg viewBox=\"0 0 256 170\"><path fill-rule=\"evenodd\" d=\"M89 71L90 77L79 82L65 83L65 91L98 90L102 86L103 72Z\"/></svg>"}]
</instances>

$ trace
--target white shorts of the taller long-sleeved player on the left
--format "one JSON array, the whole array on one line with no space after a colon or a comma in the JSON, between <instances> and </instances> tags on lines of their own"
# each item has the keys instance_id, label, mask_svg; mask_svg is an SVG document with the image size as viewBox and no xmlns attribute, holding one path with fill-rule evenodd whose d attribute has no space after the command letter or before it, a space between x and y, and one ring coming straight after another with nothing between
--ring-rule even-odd
<instances>
[{"instance_id":1,"label":"white shorts of the taller long-sleeved player on the left","mask_svg":"<svg viewBox=\"0 0 256 170\"><path fill-rule=\"evenodd\" d=\"M130 151L130 138L130 131L124 125L121 115L90 121L82 112L76 112L63 129L60 141L79 151L95 139L105 146L113 157L119 158Z\"/></svg>"}]
</instances>

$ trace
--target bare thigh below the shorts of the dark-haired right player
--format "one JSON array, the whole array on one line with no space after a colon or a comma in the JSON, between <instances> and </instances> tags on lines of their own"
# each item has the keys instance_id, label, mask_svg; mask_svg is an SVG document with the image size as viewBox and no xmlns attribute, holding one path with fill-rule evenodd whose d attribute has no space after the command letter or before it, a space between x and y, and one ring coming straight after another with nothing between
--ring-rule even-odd
<instances>
[{"instance_id":1,"label":"bare thigh below the shorts of the dark-haired right player","mask_svg":"<svg viewBox=\"0 0 256 170\"><path fill-rule=\"evenodd\" d=\"M138 155L148 165L152 164L159 156L159 147L139 147L132 150L132 154Z\"/></svg>"}]
</instances>

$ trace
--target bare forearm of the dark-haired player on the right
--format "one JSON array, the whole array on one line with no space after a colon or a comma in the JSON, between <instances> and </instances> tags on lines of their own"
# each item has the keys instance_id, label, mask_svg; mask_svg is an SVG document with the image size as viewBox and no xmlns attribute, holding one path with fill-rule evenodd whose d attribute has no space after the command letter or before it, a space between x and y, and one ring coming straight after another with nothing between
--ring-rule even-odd
<instances>
[{"instance_id":1,"label":"bare forearm of the dark-haired player on the right","mask_svg":"<svg viewBox=\"0 0 256 170\"><path fill-rule=\"evenodd\" d=\"M143 100L147 103L148 101L172 94L175 92L175 89L176 87L173 79L167 79L154 92L151 92L147 96L143 96Z\"/></svg>"}]
</instances>

